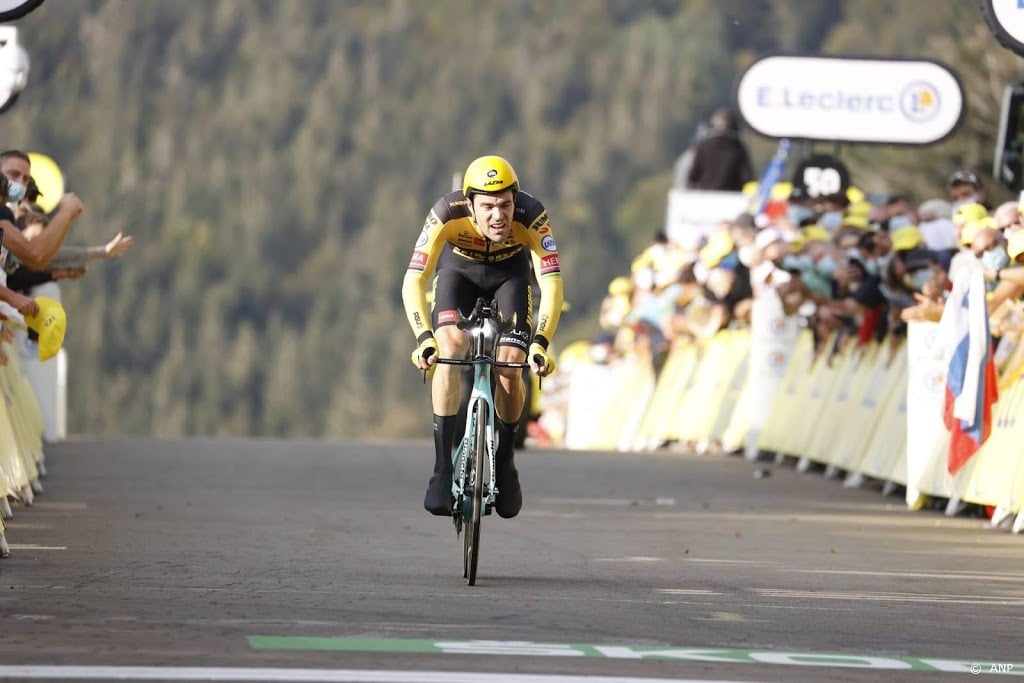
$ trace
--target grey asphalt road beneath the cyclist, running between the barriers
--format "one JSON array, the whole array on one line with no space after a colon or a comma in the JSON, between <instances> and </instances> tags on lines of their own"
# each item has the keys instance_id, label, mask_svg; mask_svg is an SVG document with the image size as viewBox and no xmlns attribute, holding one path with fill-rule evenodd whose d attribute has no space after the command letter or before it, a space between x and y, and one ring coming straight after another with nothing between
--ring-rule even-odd
<instances>
[{"instance_id":1,"label":"grey asphalt road beneath the cyclist, running between the barriers","mask_svg":"<svg viewBox=\"0 0 1024 683\"><path fill-rule=\"evenodd\" d=\"M735 457L524 452L523 511L484 518L469 587L422 509L432 460L426 440L50 447L0 561L0 680L1024 674L1024 538L984 520Z\"/></svg>"}]
</instances>

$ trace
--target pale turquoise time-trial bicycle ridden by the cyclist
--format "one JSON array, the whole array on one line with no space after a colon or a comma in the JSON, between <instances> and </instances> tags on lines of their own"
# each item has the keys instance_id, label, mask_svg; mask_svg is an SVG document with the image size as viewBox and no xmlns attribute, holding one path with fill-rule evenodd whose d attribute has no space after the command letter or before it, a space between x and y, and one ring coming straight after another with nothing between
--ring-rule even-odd
<instances>
[{"instance_id":1,"label":"pale turquoise time-trial bicycle ridden by the cyclist","mask_svg":"<svg viewBox=\"0 0 1024 683\"><path fill-rule=\"evenodd\" d=\"M466 427L462 440L453 454L452 521L456 537L463 535L463 578L470 586L476 584L479 561L480 517L489 515L499 490L495 470L495 396L493 368L529 368L528 362L506 362L497 359L498 341L511 330L515 321L504 319L498 302L488 304L482 297L465 317L459 313L456 326L470 336L466 358L437 358L451 366L472 366L473 384L466 412ZM484 469L486 461L486 469ZM486 477L484 476L486 474Z\"/></svg>"}]
</instances>

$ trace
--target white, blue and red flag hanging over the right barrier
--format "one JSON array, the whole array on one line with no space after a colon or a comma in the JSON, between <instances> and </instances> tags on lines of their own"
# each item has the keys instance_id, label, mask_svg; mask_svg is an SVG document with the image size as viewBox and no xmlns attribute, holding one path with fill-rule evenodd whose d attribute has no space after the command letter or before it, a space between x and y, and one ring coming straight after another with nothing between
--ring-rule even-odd
<instances>
[{"instance_id":1,"label":"white, blue and red flag hanging over the right barrier","mask_svg":"<svg viewBox=\"0 0 1024 683\"><path fill-rule=\"evenodd\" d=\"M956 474L988 438L998 398L992 337L980 267L959 268L939 322L949 358L943 419L950 433L946 468Z\"/></svg>"}]
</instances>

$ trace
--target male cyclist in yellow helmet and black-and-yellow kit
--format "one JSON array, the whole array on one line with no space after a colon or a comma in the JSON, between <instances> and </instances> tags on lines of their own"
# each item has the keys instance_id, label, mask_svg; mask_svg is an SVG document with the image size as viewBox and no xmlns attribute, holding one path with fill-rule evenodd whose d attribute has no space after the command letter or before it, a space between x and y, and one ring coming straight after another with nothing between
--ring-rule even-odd
<instances>
[{"instance_id":1,"label":"male cyclist in yellow helmet and black-and-yellow kit","mask_svg":"<svg viewBox=\"0 0 1024 683\"><path fill-rule=\"evenodd\" d=\"M531 260L541 289L536 327ZM435 269L428 313L426 284ZM548 345L562 310L562 276L555 238L547 210L519 189L511 164L495 156L474 160L463 176L462 189L434 204L401 287L406 315L419 344L413 352L413 364L421 370L433 370L430 393L435 461L423 506L435 515L452 513L452 446L462 389L458 366L438 367L436 358L438 354L465 355L469 338L456 327L456 311L469 315L478 297L497 300L502 315L515 319L515 327L499 341L498 360L522 362L528 356L538 376L554 371ZM495 373L495 508L508 518L517 515L522 507L512 446L525 391L518 370L496 368Z\"/></svg>"}]
</instances>

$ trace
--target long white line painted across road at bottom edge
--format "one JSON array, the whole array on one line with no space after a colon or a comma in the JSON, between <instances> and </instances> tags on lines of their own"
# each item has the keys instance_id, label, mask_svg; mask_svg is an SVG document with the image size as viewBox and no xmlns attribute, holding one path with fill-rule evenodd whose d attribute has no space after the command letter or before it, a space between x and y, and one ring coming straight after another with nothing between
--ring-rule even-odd
<instances>
[{"instance_id":1,"label":"long white line painted across road at bottom edge","mask_svg":"<svg viewBox=\"0 0 1024 683\"><path fill-rule=\"evenodd\" d=\"M554 674L493 674L452 671L357 669L244 669L233 667L51 667L0 666L0 679L119 681L321 681L327 683L739 683L691 678L623 678ZM750 683L750 682L748 682Z\"/></svg>"}]
</instances>

